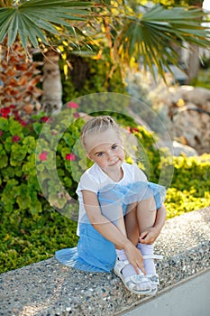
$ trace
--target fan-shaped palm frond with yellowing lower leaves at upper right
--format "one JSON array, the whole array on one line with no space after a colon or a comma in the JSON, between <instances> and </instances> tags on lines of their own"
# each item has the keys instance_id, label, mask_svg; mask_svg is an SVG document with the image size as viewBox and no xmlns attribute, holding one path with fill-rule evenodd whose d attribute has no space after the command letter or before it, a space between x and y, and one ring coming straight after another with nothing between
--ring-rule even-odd
<instances>
[{"instance_id":1,"label":"fan-shaped palm frond with yellowing lower leaves at upper right","mask_svg":"<svg viewBox=\"0 0 210 316\"><path fill-rule=\"evenodd\" d=\"M124 62L132 58L137 62L142 59L144 68L153 72L154 65L160 75L169 63L178 65L178 52L173 44L183 42L210 48L210 30L202 25L204 13L200 9L174 7L169 10L155 5L141 18L126 16L123 28L115 38L116 54L121 54Z\"/></svg>"}]
</instances>

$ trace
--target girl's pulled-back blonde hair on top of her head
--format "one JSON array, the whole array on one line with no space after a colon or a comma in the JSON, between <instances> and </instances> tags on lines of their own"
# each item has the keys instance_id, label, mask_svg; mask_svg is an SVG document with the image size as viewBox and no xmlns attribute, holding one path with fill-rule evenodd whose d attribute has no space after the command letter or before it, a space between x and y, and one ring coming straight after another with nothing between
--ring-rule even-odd
<instances>
[{"instance_id":1,"label":"girl's pulled-back blonde hair on top of her head","mask_svg":"<svg viewBox=\"0 0 210 316\"><path fill-rule=\"evenodd\" d=\"M101 132L105 132L107 129L114 129L114 131L120 136L120 126L116 124L114 118L111 116L96 116L91 118L82 128L82 144L87 149L86 139L90 135L96 135Z\"/></svg>"}]
</instances>

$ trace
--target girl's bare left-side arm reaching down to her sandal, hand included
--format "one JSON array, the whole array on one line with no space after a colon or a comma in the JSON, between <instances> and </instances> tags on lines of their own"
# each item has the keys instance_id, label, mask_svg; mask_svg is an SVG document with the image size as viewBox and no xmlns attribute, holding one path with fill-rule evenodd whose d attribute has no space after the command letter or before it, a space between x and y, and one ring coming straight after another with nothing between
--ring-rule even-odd
<instances>
[{"instance_id":1,"label":"girl's bare left-side arm reaching down to her sandal, hand included","mask_svg":"<svg viewBox=\"0 0 210 316\"><path fill-rule=\"evenodd\" d=\"M139 274L138 268L144 274L144 265L141 252L132 245L132 242L126 237L125 228L122 225L121 218L119 218L120 226L116 227L111 221L101 214L101 208L98 203L96 193L92 191L83 190L83 202L87 211L87 217L94 228L106 239L114 243L116 248L124 249L128 261ZM123 218L122 218L123 220Z\"/></svg>"}]
</instances>

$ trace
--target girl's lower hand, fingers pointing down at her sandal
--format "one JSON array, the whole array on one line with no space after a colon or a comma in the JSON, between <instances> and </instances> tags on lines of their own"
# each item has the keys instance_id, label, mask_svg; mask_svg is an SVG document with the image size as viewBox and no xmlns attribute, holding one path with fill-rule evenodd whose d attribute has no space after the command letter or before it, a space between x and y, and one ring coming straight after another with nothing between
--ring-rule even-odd
<instances>
[{"instance_id":1,"label":"girl's lower hand, fingers pointing down at her sandal","mask_svg":"<svg viewBox=\"0 0 210 316\"><path fill-rule=\"evenodd\" d=\"M143 274L146 274L141 251L137 249L136 246L130 244L129 246L124 247L124 252L128 258L128 261L133 266L136 274L140 274L139 269L142 270Z\"/></svg>"}]
</instances>

